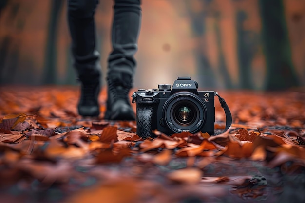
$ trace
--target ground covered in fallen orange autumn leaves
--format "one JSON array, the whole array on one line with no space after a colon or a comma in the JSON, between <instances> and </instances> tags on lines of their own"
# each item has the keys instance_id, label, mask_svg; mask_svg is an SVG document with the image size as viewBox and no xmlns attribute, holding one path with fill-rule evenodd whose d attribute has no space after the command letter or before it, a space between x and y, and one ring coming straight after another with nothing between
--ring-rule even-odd
<instances>
[{"instance_id":1,"label":"ground covered in fallen orange autumn leaves","mask_svg":"<svg viewBox=\"0 0 305 203\"><path fill-rule=\"evenodd\" d=\"M219 93L227 132L143 140L135 122L78 116L77 87L1 87L0 200L304 203L305 91Z\"/></svg>"}]
</instances>

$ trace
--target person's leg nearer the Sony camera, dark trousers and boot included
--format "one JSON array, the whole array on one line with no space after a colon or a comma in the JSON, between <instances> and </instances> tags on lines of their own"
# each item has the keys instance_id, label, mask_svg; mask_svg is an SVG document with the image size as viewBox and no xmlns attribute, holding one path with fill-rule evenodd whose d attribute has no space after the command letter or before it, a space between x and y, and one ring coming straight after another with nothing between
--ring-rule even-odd
<instances>
[{"instance_id":1,"label":"person's leg nearer the Sony camera, dark trousers and boot included","mask_svg":"<svg viewBox=\"0 0 305 203\"><path fill-rule=\"evenodd\" d=\"M112 27L113 51L108 58L108 99L105 119L135 120L130 105L136 61L137 40L141 25L140 0L114 0Z\"/></svg>"}]
</instances>

